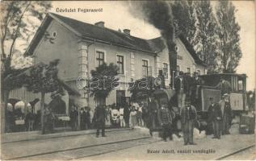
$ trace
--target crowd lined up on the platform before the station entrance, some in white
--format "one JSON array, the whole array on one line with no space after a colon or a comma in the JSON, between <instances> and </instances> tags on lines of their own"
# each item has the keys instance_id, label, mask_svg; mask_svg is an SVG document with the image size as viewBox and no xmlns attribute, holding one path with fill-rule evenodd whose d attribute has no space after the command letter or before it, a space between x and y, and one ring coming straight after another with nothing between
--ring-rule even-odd
<instances>
[{"instance_id":1,"label":"crowd lined up on the platform before the station entrance, some in white","mask_svg":"<svg viewBox=\"0 0 256 161\"><path fill-rule=\"evenodd\" d=\"M98 105L94 113L90 108L72 106L69 112L69 122L72 130L78 130L78 115L80 114L80 129L91 128L102 129L103 136L106 126L109 127L131 127L146 126L148 108L144 103L133 103L131 105ZM97 133L99 136L99 134Z\"/></svg>"}]
</instances>

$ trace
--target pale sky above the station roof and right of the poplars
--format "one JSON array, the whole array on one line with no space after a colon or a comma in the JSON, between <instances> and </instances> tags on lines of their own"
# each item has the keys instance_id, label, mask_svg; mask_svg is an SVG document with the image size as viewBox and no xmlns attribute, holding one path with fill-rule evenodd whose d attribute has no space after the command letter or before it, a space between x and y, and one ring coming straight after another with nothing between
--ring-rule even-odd
<instances>
[{"instance_id":1,"label":"pale sky above the station roof and right of the poplars","mask_svg":"<svg viewBox=\"0 0 256 161\"><path fill-rule=\"evenodd\" d=\"M213 6L214 6L213 2ZM242 57L237 67L237 73L246 73L247 89L255 88L255 2L254 1L233 1L237 8L236 19L241 26L241 51ZM76 12L57 12L59 9L76 9ZM78 8L82 9L98 9L102 8L103 12L83 13L78 12ZM118 30L129 29L131 35L143 39L153 39L160 36L160 32L151 24L135 18L128 10L127 2L73 2L73 1L54 1L52 2L52 13L61 14L73 19L78 19L86 23L105 22L105 27Z\"/></svg>"}]
</instances>

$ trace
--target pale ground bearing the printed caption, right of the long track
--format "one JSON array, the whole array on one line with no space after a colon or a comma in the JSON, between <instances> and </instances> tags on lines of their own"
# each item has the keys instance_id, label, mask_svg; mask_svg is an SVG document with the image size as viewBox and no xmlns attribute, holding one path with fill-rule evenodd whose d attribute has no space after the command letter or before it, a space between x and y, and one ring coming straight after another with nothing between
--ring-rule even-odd
<instances>
[{"instance_id":1,"label":"pale ground bearing the printed caption, right of the long track","mask_svg":"<svg viewBox=\"0 0 256 161\"><path fill-rule=\"evenodd\" d=\"M239 134L238 125L230 130L231 134L213 139L195 139L197 145L184 146L182 141L154 142L149 145L131 147L125 150L113 151L104 155L84 157L81 159L136 159L136 160L219 160L219 159L256 159L255 134Z\"/></svg>"}]
</instances>

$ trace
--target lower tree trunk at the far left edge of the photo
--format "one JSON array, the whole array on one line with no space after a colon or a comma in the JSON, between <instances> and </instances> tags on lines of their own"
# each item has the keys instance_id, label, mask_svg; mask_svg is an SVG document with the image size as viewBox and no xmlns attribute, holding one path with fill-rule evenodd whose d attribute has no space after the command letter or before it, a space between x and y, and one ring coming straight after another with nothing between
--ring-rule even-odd
<instances>
[{"instance_id":1,"label":"lower tree trunk at the far left edge of the photo","mask_svg":"<svg viewBox=\"0 0 256 161\"><path fill-rule=\"evenodd\" d=\"M1 100L1 134L6 132L6 111L9 99L9 90L2 90L3 97Z\"/></svg>"}]
</instances>

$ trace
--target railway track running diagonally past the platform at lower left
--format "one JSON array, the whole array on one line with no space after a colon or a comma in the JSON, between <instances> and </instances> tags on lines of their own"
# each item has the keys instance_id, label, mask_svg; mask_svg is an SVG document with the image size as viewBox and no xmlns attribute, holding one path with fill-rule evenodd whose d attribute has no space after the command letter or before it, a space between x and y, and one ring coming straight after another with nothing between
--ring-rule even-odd
<instances>
[{"instance_id":1,"label":"railway track running diagonally past the platform at lower left","mask_svg":"<svg viewBox=\"0 0 256 161\"><path fill-rule=\"evenodd\" d=\"M120 151L130 147L137 147L153 142L159 142L151 137L134 138L117 142L107 142L91 146L75 147L60 151L50 151L34 155L19 156L6 160L16 159L82 159L94 155L103 155L113 151ZM60 158L61 157L61 158Z\"/></svg>"}]
</instances>

